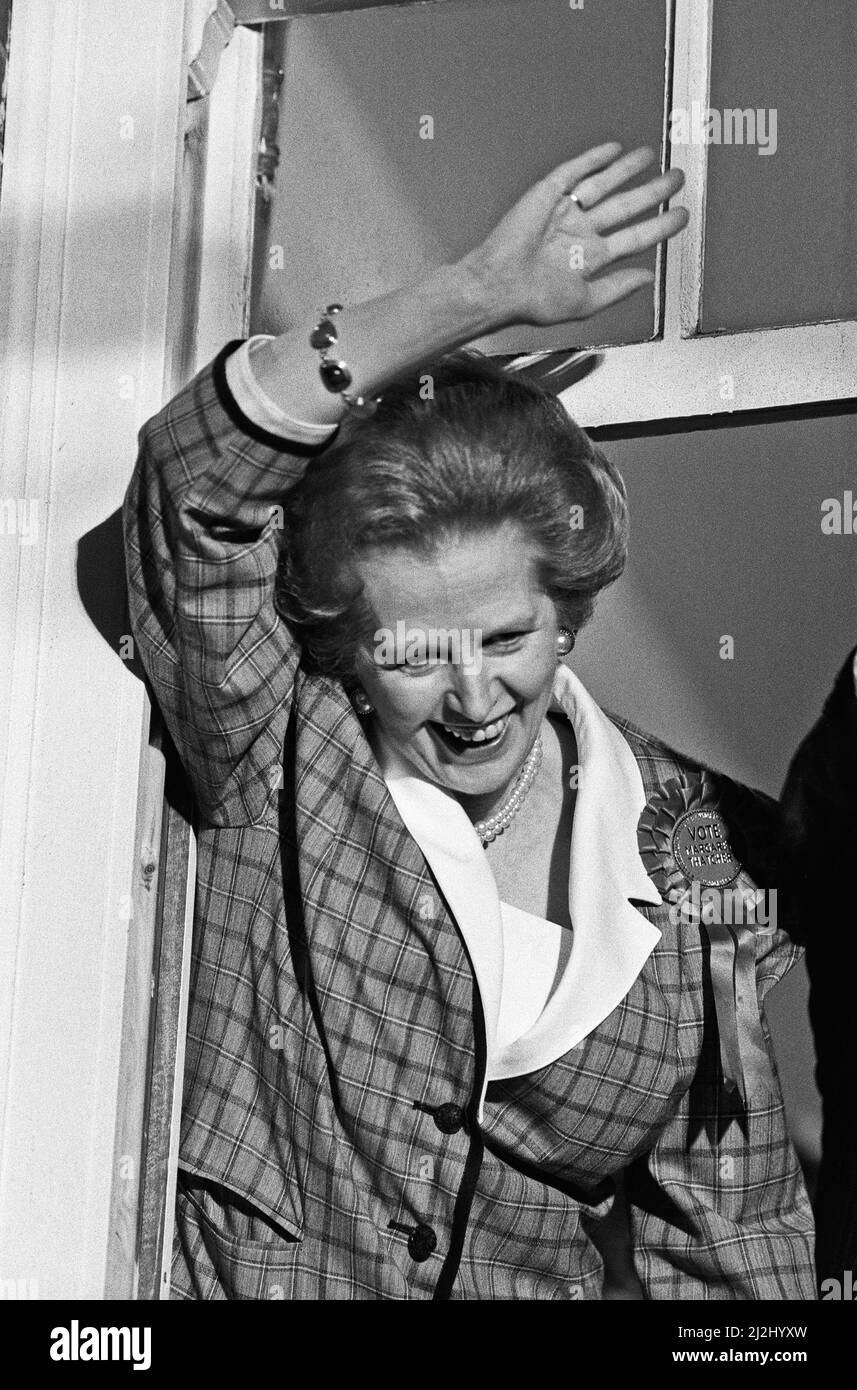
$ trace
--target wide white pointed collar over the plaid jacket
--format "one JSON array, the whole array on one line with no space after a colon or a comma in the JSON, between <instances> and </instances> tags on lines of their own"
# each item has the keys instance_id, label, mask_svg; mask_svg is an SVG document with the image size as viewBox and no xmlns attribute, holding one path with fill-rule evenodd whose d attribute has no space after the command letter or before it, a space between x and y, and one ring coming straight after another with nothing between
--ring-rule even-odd
<instances>
[{"instance_id":1,"label":"wide white pointed collar over the plaid jacket","mask_svg":"<svg viewBox=\"0 0 857 1390\"><path fill-rule=\"evenodd\" d=\"M476 977L488 1045L479 1119L488 1081L549 1066L592 1033L625 998L661 935L629 901L661 902L638 849L646 792L636 759L565 666L557 669L551 709L567 714L578 745L568 874L572 949L542 1016L507 1049L497 1049L503 917L482 842L456 798L415 776L378 731L383 780L458 924Z\"/></svg>"}]
</instances>

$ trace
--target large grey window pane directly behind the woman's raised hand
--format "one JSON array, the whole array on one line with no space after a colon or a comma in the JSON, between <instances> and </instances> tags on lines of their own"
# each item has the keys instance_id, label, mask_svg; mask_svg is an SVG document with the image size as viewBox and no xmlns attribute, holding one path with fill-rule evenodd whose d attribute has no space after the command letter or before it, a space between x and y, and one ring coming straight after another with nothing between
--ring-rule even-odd
<instances>
[{"instance_id":1,"label":"large grey window pane directly behind the woman's raised hand","mask_svg":"<svg viewBox=\"0 0 857 1390\"><path fill-rule=\"evenodd\" d=\"M383 293L460 256L589 145L660 149L664 25L664 0L449 0L289 24L254 331L282 331L335 296ZM421 138L424 117L433 139ZM583 327L513 329L490 346L653 331L653 296L642 292Z\"/></svg>"}]
</instances>

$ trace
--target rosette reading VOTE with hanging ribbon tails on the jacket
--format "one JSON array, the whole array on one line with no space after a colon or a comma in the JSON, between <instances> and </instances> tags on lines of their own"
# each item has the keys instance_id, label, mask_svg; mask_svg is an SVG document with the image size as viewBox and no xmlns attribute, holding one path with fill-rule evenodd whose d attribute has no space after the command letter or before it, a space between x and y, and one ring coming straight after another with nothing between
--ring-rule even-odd
<instances>
[{"instance_id":1,"label":"rosette reading VOTE with hanging ribbon tails on the jacket","mask_svg":"<svg viewBox=\"0 0 857 1390\"><path fill-rule=\"evenodd\" d=\"M771 1063L756 988L756 934L764 892L746 867L758 801L736 783L700 770L674 777L649 801L639 820L639 849L650 878L681 926L701 926L710 972L724 1081L742 1101L771 1091ZM756 866L754 866L756 873Z\"/></svg>"}]
</instances>

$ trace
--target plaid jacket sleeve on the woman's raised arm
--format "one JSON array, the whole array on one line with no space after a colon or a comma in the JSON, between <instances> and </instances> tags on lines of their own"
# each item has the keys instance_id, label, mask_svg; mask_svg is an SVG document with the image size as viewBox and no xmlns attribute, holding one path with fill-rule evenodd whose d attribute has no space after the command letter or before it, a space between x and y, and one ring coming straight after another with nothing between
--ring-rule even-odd
<instances>
[{"instance_id":1,"label":"plaid jacket sleeve on the woman's raised arm","mask_svg":"<svg viewBox=\"0 0 857 1390\"><path fill-rule=\"evenodd\" d=\"M131 621L203 817L264 817L300 652L274 607L281 505L318 446L254 425L229 343L139 434L124 503ZM279 525L278 525L279 520Z\"/></svg>"}]
</instances>

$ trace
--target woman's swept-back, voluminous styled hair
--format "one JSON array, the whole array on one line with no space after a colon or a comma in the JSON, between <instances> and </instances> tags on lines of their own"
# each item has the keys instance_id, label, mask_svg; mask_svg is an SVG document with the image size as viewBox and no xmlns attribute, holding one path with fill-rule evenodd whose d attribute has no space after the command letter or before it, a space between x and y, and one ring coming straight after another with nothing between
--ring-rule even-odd
<instances>
[{"instance_id":1,"label":"woman's swept-back, voluminous styled hair","mask_svg":"<svg viewBox=\"0 0 857 1390\"><path fill-rule=\"evenodd\" d=\"M582 627L625 566L617 468L554 396L472 350L389 384L375 416L347 417L285 499L275 605L304 664L353 681L369 621L363 553L429 557L507 523L533 545L560 624Z\"/></svg>"}]
</instances>

